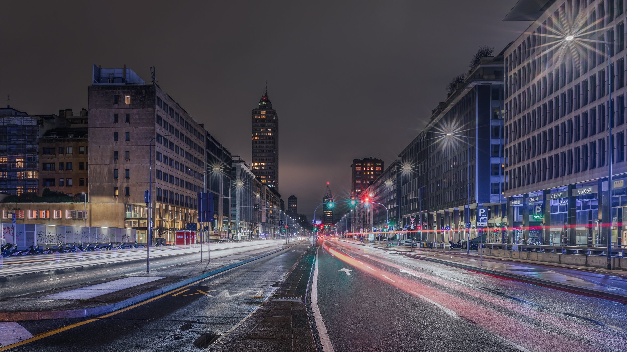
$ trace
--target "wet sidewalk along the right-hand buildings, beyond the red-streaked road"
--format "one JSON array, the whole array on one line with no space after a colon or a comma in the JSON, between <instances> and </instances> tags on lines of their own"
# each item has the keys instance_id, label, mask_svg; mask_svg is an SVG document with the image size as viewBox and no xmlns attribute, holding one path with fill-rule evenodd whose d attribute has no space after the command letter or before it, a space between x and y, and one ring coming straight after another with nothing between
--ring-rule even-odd
<instances>
[{"instance_id":1,"label":"wet sidewalk along the right-hand buildings, beyond the red-streaked road","mask_svg":"<svg viewBox=\"0 0 627 352\"><path fill-rule=\"evenodd\" d=\"M350 242L349 242L350 243ZM364 244L364 247L366 245ZM377 245L386 249L385 245ZM538 284L566 291L587 294L599 298L611 299L627 304L627 276L606 269L566 266L564 264L545 264L542 262L512 261L497 257L483 257L476 253L451 252L448 249L410 249L409 247L390 246L389 251L424 261L437 262L470 271L482 272L507 279Z\"/></svg>"}]
</instances>

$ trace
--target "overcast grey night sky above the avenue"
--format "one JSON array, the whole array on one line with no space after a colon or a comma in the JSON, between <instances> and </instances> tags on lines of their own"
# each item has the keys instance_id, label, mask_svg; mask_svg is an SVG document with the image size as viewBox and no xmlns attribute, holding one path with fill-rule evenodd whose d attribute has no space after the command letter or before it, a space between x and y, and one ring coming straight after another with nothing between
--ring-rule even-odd
<instances>
[{"instance_id":1,"label":"overcast grey night sky above the avenue","mask_svg":"<svg viewBox=\"0 0 627 352\"><path fill-rule=\"evenodd\" d=\"M279 191L312 219L353 158L387 165L416 137L446 84L529 22L517 0L3 1L0 98L29 114L87 108L92 64L159 85L233 154L251 160L251 109L280 121Z\"/></svg>"}]
</instances>

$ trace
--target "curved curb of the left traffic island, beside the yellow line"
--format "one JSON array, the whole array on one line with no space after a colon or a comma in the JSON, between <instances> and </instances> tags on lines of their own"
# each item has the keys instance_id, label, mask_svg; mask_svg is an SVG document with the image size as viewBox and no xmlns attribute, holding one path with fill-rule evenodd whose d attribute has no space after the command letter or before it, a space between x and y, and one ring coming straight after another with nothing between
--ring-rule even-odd
<instances>
[{"instance_id":1,"label":"curved curb of the left traffic island, beside the yellow line","mask_svg":"<svg viewBox=\"0 0 627 352\"><path fill-rule=\"evenodd\" d=\"M280 251L284 251L285 249L290 248L291 246L285 247L283 249L277 249L276 251L272 251L269 253L261 254L259 256L255 256L245 261L236 262L231 265L221 267L219 269L205 272L204 274L190 277L189 279L185 279L183 281L174 282L174 284L169 284L168 286L164 286L154 291L146 292L144 294L140 294L139 296L135 296L132 298L125 299L124 301L120 301L118 303L107 304L106 306L93 307L93 308L83 308L83 309L70 309L66 311L35 311L35 312L0 312L0 321L22 321L22 320L44 320L44 319L61 319L61 318L85 318L87 316L100 315L105 313L111 313L113 311L117 311L122 308L126 308L128 306L132 306L135 303L139 303L141 301L145 301L146 299L153 298L155 296L159 296L160 294L164 294L165 292L172 291L173 289L177 289L182 286L186 286L191 284L194 281L198 281L201 279L205 279L206 277L213 276L215 274L219 274L220 272L227 271L229 269L233 269L234 267L241 266L251 261L255 261L256 259L260 259L266 256L270 256L270 254L275 254Z\"/></svg>"}]
</instances>

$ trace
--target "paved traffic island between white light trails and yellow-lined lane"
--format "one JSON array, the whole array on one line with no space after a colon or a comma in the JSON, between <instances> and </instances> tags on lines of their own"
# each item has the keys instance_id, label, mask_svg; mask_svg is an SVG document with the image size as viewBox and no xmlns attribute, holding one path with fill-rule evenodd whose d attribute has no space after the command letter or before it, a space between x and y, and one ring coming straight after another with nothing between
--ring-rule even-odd
<instances>
[{"instance_id":1,"label":"paved traffic island between white light trails and yellow-lined lane","mask_svg":"<svg viewBox=\"0 0 627 352\"><path fill-rule=\"evenodd\" d=\"M0 321L82 318L110 313L289 246L256 249L206 261L0 299Z\"/></svg>"}]
</instances>

